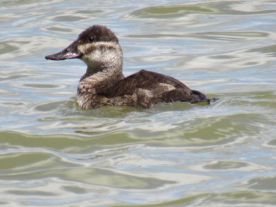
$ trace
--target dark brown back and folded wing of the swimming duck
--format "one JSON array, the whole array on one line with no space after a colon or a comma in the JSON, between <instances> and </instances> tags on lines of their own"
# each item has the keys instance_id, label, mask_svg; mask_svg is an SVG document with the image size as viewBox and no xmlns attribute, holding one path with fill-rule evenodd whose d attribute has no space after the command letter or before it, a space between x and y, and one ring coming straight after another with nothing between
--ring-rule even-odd
<instances>
[{"instance_id":1,"label":"dark brown back and folded wing of the swimming duck","mask_svg":"<svg viewBox=\"0 0 276 207\"><path fill-rule=\"evenodd\" d=\"M141 70L125 79L121 79L121 81L103 92L102 95L108 99L118 99L119 102L115 105L143 108L150 108L159 102L196 103L206 99L204 94L197 90L190 90L177 79L147 70Z\"/></svg>"}]
</instances>

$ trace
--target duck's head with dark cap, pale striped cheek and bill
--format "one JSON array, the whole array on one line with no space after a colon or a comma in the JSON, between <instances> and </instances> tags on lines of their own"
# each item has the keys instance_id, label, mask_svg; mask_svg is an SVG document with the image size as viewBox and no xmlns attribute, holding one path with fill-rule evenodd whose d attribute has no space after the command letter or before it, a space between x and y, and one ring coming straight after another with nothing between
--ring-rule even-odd
<instances>
[{"instance_id":1,"label":"duck's head with dark cap, pale striped cheek and bill","mask_svg":"<svg viewBox=\"0 0 276 207\"><path fill-rule=\"evenodd\" d=\"M100 25L87 28L70 46L45 58L51 60L81 59L88 69L95 70L94 72L103 68L121 68L123 65L123 53L119 40L114 32Z\"/></svg>"}]
</instances>

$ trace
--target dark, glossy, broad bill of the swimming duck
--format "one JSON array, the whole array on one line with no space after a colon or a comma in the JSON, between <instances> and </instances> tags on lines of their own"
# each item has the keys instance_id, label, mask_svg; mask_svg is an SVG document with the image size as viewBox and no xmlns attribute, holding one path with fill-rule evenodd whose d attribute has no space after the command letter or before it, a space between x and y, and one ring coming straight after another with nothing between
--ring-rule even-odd
<instances>
[{"instance_id":1,"label":"dark, glossy, broad bill of the swimming duck","mask_svg":"<svg viewBox=\"0 0 276 207\"><path fill-rule=\"evenodd\" d=\"M51 60L64 60L64 59L74 59L74 58L81 58L81 52L77 50L77 42L73 42L62 50L61 52L57 52L52 55L47 55L45 57L46 59L51 59Z\"/></svg>"}]
</instances>

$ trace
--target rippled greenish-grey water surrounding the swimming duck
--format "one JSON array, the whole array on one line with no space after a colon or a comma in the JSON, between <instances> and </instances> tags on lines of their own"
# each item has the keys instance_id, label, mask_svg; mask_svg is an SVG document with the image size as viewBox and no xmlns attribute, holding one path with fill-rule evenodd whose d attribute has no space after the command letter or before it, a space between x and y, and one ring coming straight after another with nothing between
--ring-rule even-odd
<instances>
[{"instance_id":1,"label":"rippled greenish-grey water surrounding the swimming duck","mask_svg":"<svg viewBox=\"0 0 276 207\"><path fill-rule=\"evenodd\" d=\"M0 1L1 206L275 206L275 1ZM210 106L81 110L82 30Z\"/></svg>"}]
</instances>

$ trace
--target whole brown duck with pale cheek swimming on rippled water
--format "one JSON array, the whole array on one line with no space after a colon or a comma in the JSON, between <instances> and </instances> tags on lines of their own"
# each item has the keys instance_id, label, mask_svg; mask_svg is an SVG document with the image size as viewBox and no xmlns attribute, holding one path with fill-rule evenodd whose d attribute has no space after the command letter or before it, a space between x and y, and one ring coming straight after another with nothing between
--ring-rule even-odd
<instances>
[{"instance_id":1,"label":"whole brown duck with pale cheek swimming on rippled water","mask_svg":"<svg viewBox=\"0 0 276 207\"><path fill-rule=\"evenodd\" d=\"M140 70L125 77L119 39L106 26L87 28L70 46L45 58L55 61L81 59L86 63L86 73L79 80L76 98L79 106L86 110L101 106L152 108L160 102L175 101L210 104L206 95L167 75Z\"/></svg>"}]
</instances>

